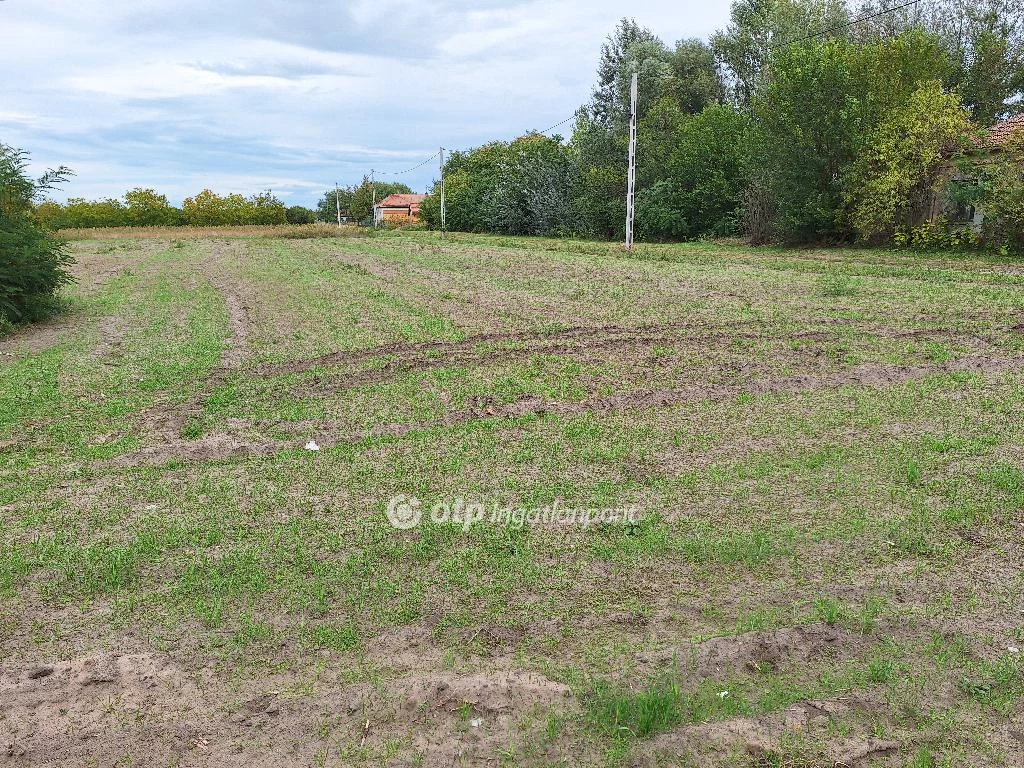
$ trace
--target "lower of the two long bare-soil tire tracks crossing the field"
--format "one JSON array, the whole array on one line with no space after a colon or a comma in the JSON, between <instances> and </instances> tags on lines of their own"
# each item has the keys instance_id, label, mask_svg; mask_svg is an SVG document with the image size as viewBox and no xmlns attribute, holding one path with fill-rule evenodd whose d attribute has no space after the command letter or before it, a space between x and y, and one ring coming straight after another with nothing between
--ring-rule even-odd
<instances>
[{"instance_id":1,"label":"lower of the two long bare-soil tire tracks crossing the field","mask_svg":"<svg viewBox=\"0 0 1024 768\"><path fill-rule=\"evenodd\" d=\"M574 402L546 400L532 395L509 403L494 403L483 398L473 408L453 411L441 419L424 422L381 424L369 430L335 433L330 428L311 430L322 447L354 444L375 437L401 437L411 432L437 427L456 427L472 421L511 420L526 416L555 415L572 417L586 413L609 414L641 409L664 409L702 402L731 399L739 394L788 395L804 394L843 387L888 387L921 381L930 376L972 373L993 376L1024 370L1024 356L996 358L972 355L957 360L919 366L890 366L864 364L826 376L796 375L751 379L745 385L693 384L677 389L653 389L627 394L592 397ZM268 457L280 452L295 451L298 445L285 441L245 440L227 434L211 435L194 441L171 440L164 445L145 449L121 457L114 462L119 466L162 464L171 460L216 461L243 457ZM103 464L103 463L101 463Z\"/></svg>"}]
</instances>

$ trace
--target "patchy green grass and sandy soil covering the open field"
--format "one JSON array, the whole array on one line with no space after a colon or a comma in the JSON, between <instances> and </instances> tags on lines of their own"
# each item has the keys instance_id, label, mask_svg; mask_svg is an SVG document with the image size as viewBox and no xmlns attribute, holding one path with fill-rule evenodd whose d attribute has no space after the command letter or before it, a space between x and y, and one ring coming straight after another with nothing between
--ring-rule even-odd
<instances>
[{"instance_id":1,"label":"patchy green grass and sandy soil covering the open field","mask_svg":"<svg viewBox=\"0 0 1024 768\"><path fill-rule=\"evenodd\" d=\"M206 671L211 718L287 691L327 725L268 720L296 744L282 764L450 743L733 765L755 721L766 764L868 738L905 765L1012 758L1024 279L1005 261L96 234L74 234L68 313L0 341L11 664L134 643ZM388 523L397 494L418 526ZM429 519L456 499L642 517ZM723 638L741 652L697 663ZM782 726L820 700L843 706Z\"/></svg>"}]
</instances>

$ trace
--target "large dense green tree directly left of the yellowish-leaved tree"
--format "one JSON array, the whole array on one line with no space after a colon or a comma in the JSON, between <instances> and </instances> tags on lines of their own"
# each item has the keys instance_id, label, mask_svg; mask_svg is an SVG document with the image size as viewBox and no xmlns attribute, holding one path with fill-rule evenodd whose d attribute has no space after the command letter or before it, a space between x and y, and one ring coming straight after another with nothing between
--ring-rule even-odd
<instances>
[{"instance_id":1,"label":"large dense green tree directly left of the yellowish-leaved tree","mask_svg":"<svg viewBox=\"0 0 1024 768\"><path fill-rule=\"evenodd\" d=\"M854 173L854 163L924 84L949 71L938 38L922 30L776 50L751 105L748 232L795 243L853 237L851 184L862 185L866 173Z\"/></svg>"}]
</instances>

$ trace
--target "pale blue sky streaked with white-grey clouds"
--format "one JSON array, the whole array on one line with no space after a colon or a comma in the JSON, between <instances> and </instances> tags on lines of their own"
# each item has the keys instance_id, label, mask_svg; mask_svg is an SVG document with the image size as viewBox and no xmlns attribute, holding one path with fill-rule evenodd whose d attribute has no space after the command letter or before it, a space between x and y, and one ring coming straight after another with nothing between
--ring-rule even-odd
<instances>
[{"instance_id":1,"label":"pale blue sky streaked with white-grey clouds","mask_svg":"<svg viewBox=\"0 0 1024 768\"><path fill-rule=\"evenodd\" d=\"M423 191L439 146L543 130L590 97L623 15L706 38L728 0L0 0L0 142L53 195L270 189L311 205L376 169Z\"/></svg>"}]
</instances>

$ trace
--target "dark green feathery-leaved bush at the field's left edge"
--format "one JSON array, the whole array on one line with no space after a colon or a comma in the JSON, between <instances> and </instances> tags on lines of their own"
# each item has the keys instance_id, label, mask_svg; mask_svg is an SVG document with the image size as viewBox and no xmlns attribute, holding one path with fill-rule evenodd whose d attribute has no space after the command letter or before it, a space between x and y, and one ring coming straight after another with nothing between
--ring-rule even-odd
<instances>
[{"instance_id":1,"label":"dark green feathery-leaved bush at the field's left edge","mask_svg":"<svg viewBox=\"0 0 1024 768\"><path fill-rule=\"evenodd\" d=\"M59 168L34 181L26 174L27 160L25 152L0 143L0 318L7 324L40 318L72 281L72 258L34 210L35 201L71 172Z\"/></svg>"}]
</instances>

